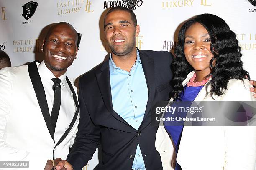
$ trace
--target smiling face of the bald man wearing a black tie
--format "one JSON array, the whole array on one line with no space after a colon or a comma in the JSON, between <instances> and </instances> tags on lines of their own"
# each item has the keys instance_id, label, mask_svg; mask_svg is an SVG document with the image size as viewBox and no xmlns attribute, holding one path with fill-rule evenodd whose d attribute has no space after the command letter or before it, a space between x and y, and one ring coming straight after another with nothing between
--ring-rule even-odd
<instances>
[{"instance_id":1,"label":"smiling face of the bald man wearing a black tie","mask_svg":"<svg viewBox=\"0 0 256 170\"><path fill-rule=\"evenodd\" d=\"M67 71L77 55L77 33L68 24L57 24L49 30L42 47L46 67L55 77L59 77Z\"/></svg>"}]
</instances>

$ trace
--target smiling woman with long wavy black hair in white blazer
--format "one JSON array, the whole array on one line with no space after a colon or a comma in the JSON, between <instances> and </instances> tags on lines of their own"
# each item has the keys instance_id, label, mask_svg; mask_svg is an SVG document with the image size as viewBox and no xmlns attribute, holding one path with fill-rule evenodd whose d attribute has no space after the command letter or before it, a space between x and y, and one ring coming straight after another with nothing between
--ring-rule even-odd
<instances>
[{"instance_id":1,"label":"smiling woman with long wavy black hair in white blazer","mask_svg":"<svg viewBox=\"0 0 256 170\"><path fill-rule=\"evenodd\" d=\"M188 20L178 35L170 101L255 101L240 51L218 16ZM256 126L164 125L156 134L164 170L256 170Z\"/></svg>"}]
</instances>

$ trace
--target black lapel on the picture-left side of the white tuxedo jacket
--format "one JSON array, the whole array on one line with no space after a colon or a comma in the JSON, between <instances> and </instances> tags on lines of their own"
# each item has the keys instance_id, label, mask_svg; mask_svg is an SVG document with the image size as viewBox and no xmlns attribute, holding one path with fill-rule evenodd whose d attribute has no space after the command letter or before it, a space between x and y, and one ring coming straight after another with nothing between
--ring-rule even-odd
<instances>
[{"instance_id":1,"label":"black lapel on the picture-left side of the white tuxedo jacket","mask_svg":"<svg viewBox=\"0 0 256 170\"><path fill-rule=\"evenodd\" d=\"M54 140L54 132L51 126L51 118L50 118L49 108L47 105L46 95L44 92L44 86L42 84L42 81L37 69L36 61L28 64L28 74L32 82L33 88L35 90L36 98L40 106L40 109L42 111L44 121L49 130L52 140Z\"/></svg>"}]
</instances>

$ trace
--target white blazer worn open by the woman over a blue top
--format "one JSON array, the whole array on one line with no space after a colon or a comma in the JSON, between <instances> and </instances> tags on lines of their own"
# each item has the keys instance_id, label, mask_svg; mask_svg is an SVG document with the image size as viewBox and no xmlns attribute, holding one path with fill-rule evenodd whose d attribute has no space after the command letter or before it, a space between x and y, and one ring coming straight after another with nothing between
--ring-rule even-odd
<instances>
[{"instance_id":1,"label":"white blazer worn open by the woman over a blue top","mask_svg":"<svg viewBox=\"0 0 256 170\"><path fill-rule=\"evenodd\" d=\"M187 75L189 82L194 71ZM232 79L228 90L216 100L256 101L247 79ZM210 86L208 87L208 92ZM205 86L195 101L211 101ZM171 99L170 101L172 101ZM160 153L164 170L175 168L174 144L160 122L156 133L156 150ZM182 170L256 170L256 126L184 126L177 154Z\"/></svg>"}]
</instances>

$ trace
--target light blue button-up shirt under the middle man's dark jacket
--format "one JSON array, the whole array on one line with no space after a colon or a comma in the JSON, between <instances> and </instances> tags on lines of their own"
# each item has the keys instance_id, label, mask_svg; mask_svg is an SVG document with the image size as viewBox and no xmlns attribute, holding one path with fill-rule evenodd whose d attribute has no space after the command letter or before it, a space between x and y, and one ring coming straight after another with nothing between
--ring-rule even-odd
<instances>
[{"instance_id":1,"label":"light blue button-up shirt under the middle man's dark jacket","mask_svg":"<svg viewBox=\"0 0 256 170\"><path fill-rule=\"evenodd\" d=\"M129 125L138 130L143 120L148 101L148 87L138 50L137 60L130 72L116 67L111 54L109 70L113 109ZM132 169L146 169L139 144L137 145Z\"/></svg>"}]
</instances>

